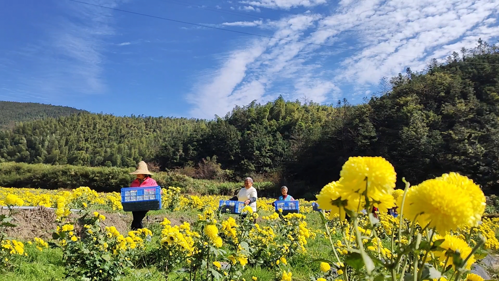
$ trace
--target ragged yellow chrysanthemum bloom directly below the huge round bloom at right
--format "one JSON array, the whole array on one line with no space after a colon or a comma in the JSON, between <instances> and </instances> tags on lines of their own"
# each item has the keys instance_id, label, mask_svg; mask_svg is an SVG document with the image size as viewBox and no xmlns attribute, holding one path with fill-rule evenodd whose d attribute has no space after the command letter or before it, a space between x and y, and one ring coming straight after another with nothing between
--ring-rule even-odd
<instances>
[{"instance_id":1,"label":"ragged yellow chrysanthemum bloom directly below the huge round bloom at right","mask_svg":"<svg viewBox=\"0 0 499 281\"><path fill-rule=\"evenodd\" d=\"M437 240L442 240L444 239L444 242L440 245L440 248L442 248L442 251L436 251L434 252L435 257L438 257L441 262L445 262L447 259L447 265L452 265L452 268L456 270L456 266L454 265L454 259L453 255L454 253L459 254L461 259L465 260L468 258L468 255L470 255L472 248L468 246L466 241L463 239L452 236L450 234L447 234L445 237L442 237L440 235L436 235L433 238L433 241ZM475 255L472 255L470 259L466 262L466 269L471 270L471 266L476 262L475 260Z\"/></svg>"}]
</instances>

